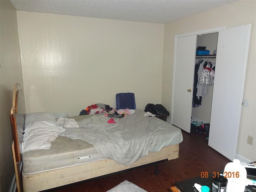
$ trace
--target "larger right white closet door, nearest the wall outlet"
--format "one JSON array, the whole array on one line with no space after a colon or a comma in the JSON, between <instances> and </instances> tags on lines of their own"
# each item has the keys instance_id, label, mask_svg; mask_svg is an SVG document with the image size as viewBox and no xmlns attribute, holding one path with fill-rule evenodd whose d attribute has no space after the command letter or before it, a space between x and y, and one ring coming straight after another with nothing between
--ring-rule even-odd
<instances>
[{"instance_id":1,"label":"larger right white closet door, nearest the wall outlet","mask_svg":"<svg viewBox=\"0 0 256 192\"><path fill-rule=\"evenodd\" d=\"M251 25L220 30L212 96L209 146L234 160Z\"/></svg>"}]
</instances>

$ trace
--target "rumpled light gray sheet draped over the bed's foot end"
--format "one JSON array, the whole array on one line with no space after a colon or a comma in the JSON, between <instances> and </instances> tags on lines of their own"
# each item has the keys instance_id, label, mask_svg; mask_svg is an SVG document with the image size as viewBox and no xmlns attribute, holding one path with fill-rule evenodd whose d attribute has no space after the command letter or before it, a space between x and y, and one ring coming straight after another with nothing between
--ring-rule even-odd
<instances>
[{"instance_id":1,"label":"rumpled light gray sheet draped over the bed's foot end","mask_svg":"<svg viewBox=\"0 0 256 192\"><path fill-rule=\"evenodd\" d=\"M137 109L132 115L114 117L116 123L112 124L107 122L109 117L92 116L78 121L79 128L65 128L60 136L85 140L94 145L100 156L124 165L132 164L148 152L182 142L179 128L144 114Z\"/></svg>"}]
</instances>

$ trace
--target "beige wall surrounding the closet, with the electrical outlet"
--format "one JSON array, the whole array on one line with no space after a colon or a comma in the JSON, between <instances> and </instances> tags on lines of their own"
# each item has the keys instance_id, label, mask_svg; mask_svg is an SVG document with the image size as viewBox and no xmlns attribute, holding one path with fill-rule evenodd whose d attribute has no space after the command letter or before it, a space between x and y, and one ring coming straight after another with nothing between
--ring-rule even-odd
<instances>
[{"instance_id":1,"label":"beige wall surrounding the closet, with the electrical outlet","mask_svg":"<svg viewBox=\"0 0 256 192\"><path fill-rule=\"evenodd\" d=\"M237 153L249 160L256 160L256 1L242 0L194 14L165 24L162 104L167 110L171 108L172 74L174 61L174 37L193 31L205 30L220 26L226 28L252 24L248 64L244 88L244 98L248 99L248 108L242 108ZM239 38L239 37L238 37ZM170 117L169 117L170 118ZM254 137L253 145L247 144L247 136Z\"/></svg>"}]
</instances>

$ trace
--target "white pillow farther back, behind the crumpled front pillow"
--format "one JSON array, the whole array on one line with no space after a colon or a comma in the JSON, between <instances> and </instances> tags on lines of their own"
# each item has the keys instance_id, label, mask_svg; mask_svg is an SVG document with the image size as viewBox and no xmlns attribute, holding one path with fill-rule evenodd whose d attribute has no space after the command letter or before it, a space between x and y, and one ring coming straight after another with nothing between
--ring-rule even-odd
<instances>
[{"instance_id":1,"label":"white pillow farther back, behind the crumpled front pillow","mask_svg":"<svg viewBox=\"0 0 256 192\"><path fill-rule=\"evenodd\" d=\"M24 132L28 130L32 126L32 124L36 121L46 121L48 123L54 123L57 126L56 119L52 113L48 112L35 112L29 113L25 116L25 125L24 125Z\"/></svg>"}]
</instances>

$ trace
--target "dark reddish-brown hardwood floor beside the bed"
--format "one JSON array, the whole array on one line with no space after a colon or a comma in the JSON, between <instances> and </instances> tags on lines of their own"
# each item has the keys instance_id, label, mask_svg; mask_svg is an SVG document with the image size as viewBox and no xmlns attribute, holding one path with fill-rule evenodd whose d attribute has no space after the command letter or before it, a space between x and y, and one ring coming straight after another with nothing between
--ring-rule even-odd
<instances>
[{"instance_id":1,"label":"dark reddish-brown hardwood floor beside the bed","mask_svg":"<svg viewBox=\"0 0 256 192\"><path fill-rule=\"evenodd\" d=\"M128 180L148 192L170 192L175 182L200 176L201 172L224 170L230 162L226 157L208 146L207 134L183 132L179 158L158 164L160 174L156 175L155 165L126 170L100 178L94 178L47 192L106 192Z\"/></svg>"}]
</instances>

